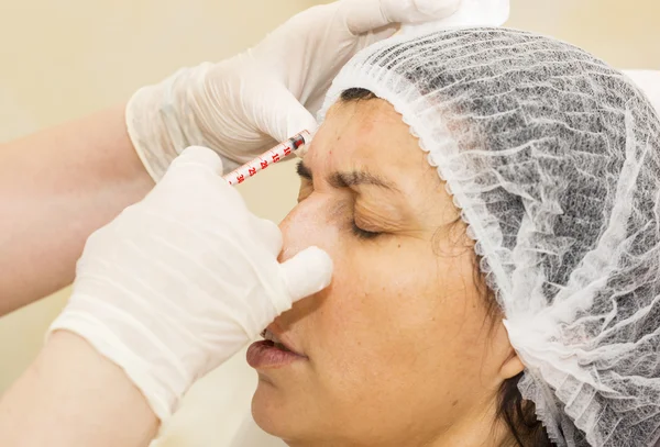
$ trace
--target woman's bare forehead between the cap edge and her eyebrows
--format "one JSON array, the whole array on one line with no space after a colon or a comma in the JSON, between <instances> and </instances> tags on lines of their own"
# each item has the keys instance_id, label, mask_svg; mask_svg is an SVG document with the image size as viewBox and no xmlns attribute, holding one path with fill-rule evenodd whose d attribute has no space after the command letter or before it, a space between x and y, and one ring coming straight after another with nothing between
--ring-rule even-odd
<instances>
[{"instance_id":1,"label":"woman's bare forehead between the cap edge and her eyebrows","mask_svg":"<svg viewBox=\"0 0 660 447\"><path fill-rule=\"evenodd\" d=\"M387 101L371 99L334 104L305 164L315 171L363 169L387 174L418 167L424 158L402 115Z\"/></svg>"}]
</instances>

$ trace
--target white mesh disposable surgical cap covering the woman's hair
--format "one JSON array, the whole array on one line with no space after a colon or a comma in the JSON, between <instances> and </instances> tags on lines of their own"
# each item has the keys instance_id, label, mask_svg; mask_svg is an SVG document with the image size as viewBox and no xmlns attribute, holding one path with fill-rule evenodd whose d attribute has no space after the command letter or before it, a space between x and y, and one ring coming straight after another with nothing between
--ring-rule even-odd
<instances>
[{"instance_id":1,"label":"white mesh disposable surgical cap covering the woman's hair","mask_svg":"<svg viewBox=\"0 0 660 447\"><path fill-rule=\"evenodd\" d=\"M395 37L349 88L391 102L446 180L559 446L660 438L660 123L619 71L506 29Z\"/></svg>"}]
</instances>

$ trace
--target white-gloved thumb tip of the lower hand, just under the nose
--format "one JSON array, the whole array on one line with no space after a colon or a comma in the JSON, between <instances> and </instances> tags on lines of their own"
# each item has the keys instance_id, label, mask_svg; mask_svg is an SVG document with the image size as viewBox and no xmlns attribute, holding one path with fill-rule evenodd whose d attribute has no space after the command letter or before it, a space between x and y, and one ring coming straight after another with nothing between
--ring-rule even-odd
<instances>
[{"instance_id":1,"label":"white-gloved thumb tip of the lower hand, just under the nose","mask_svg":"<svg viewBox=\"0 0 660 447\"><path fill-rule=\"evenodd\" d=\"M332 280L332 259L319 247L308 247L280 264L293 302L320 292ZM285 309L287 310L287 309Z\"/></svg>"}]
</instances>

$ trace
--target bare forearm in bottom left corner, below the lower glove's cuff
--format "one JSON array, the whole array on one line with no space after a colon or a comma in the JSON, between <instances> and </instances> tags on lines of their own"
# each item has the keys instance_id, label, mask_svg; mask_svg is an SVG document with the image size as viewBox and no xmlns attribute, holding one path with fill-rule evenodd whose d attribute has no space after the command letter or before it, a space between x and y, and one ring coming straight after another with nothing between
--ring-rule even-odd
<instances>
[{"instance_id":1,"label":"bare forearm in bottom left corner, below the lower glove's cuff","mask_svg":"<svg viewBox=\"0 0 660 447\"><path fill-rule=\"evenodd\" d=\"M63 331L0 400L0 446L146 447L157 428L128 376Z\"/></svg>"}]
</instances>

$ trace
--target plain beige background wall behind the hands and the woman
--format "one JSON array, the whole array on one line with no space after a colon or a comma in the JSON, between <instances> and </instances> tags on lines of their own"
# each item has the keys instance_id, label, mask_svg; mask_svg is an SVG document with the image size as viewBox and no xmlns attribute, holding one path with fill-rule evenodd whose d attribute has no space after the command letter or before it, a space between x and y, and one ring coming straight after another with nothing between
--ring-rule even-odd
<instances>
[{"instance_id":1,"label":"plain beige background wall behind the hands and the woman","mask_svg":"<svg viewBox=\"0 0 660 447\"><path fill-rule=\"evenodd\" d=\"M122 101L182 65L232 55L314 3L321 1L3 1L0 141ZM660 69L657 0L513 0L508 25L561 37L620 68ZM273 183L278 190L271 186L263 200L261 187ZM292 166L283 165L242 192L255 212L278 221L296 185ZM0 392L34 357L66 294L0 320ZM233 359L193 390L164 444L228 445L253 384L243 358Z\"/></svg>"}]
</instances>

